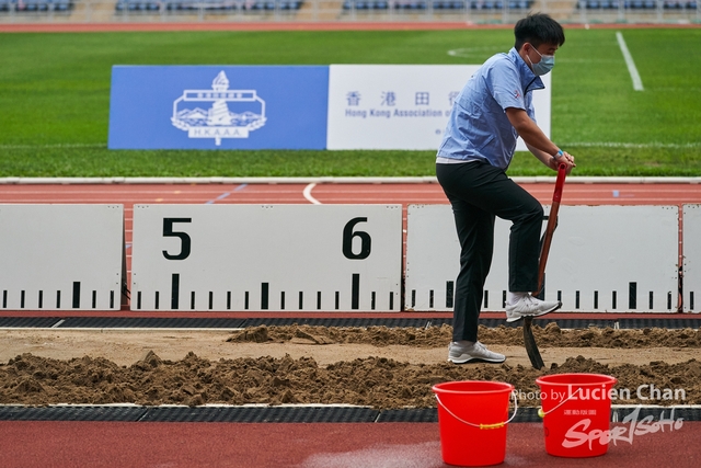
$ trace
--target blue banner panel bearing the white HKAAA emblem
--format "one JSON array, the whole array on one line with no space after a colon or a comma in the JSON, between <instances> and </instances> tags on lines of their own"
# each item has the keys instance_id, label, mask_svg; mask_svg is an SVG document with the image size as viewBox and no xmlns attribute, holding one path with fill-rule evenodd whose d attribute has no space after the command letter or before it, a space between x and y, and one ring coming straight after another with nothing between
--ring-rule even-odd
<instances>
[{"instance_id":1,"label":"blue banner panel bearing the white HKAAA emblem","mask_svg":"<svg viewBox=\"0 0 701 468\"><path fill-rule=\"evenodd\" d=\"M110 149L325 149L329 67L115 66Z\"/></svg>"}]
</instances>

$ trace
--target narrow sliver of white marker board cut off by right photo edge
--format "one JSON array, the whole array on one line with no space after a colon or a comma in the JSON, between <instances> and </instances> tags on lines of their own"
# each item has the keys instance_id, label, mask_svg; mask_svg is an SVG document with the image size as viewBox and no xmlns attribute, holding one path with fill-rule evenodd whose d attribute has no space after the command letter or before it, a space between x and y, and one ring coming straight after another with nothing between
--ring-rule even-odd
<instances>
[{"instance_id":1,"label":"narrow sliver of white marker board cut off by right photo edge","mask_svg":"<svg viewBox=\"0 0 701 468\"><path fill-rule=\"evenodd\" d=\"M683 311L701 311L701 205L683 205Z\"/></svg>"}]
</instances>

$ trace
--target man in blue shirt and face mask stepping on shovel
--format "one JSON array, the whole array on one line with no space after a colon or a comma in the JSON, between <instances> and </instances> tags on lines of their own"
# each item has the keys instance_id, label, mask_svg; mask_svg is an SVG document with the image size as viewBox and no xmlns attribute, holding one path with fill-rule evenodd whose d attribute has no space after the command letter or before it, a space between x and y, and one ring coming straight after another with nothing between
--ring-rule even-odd
<instances>
[{"instance_id":1,"label":"man in blue shirt and face mask stepping on shovel","mask_svg":"<svg viewBox=\"0 0 701 468\"><path fill-rule=\"evenodd\" d=\"M452 205L461 248L448 351L448 361L456 364L474 359L502 363L506 358L478 341L495 216L513 221L506 321L542 316L562 306L530 294L538 287L543 209L505 171L518 136L549 168L556 170L564 162L568 173L575 167L574 158L536 124L531 95L533 90L544 88L539 77L554 66L555 52L565 36L562 26L547 14L518 21L514 35L514 48L485 61L456 99L436 159L436 175Z\"/></svg>"}]
</instances>

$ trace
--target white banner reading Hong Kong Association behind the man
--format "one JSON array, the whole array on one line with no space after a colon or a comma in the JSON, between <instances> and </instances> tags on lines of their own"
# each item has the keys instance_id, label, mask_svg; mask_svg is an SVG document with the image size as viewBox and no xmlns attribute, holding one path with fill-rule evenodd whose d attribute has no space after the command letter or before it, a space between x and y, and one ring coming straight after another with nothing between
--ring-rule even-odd
<instances>
[{"instance_id":1,"label":"white banner reading Hong Kong Association behind the man","mask_svg":"<svg viewBox=\"0 0 701 468\"><path fill-rule=\"evenodd\" d=\"M438 149L452 102L479 65L332 65L326 148ZM533 92L550 136L551 75ZM519 139L517 150L526 146Z\"/></svg>"}]
</instances>

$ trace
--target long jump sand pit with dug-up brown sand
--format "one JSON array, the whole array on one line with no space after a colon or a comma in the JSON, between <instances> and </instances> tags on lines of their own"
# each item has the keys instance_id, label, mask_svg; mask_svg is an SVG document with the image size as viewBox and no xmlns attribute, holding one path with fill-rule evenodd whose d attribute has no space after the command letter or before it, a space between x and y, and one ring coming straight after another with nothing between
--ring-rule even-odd
<instances>
[{"instance_id":1,"label":"long jump sand pit with dug-up brown sand","mask_svg":"<svg viewBox=\"0 0 701 468\"><path fill-rule=\"evenodd\" d=\"M501 365L446 361L451 328L257 327L242 331L2 330L0 404L346 403L435 407L434 384L513 384L536 407L536 378L600 373L616 403L700 404L698 330L535 327L545 368L531 367L522 331L482 328ZM630 392L630 397L624 393ZM683 398L681 398L683 397Z\"/></svg>"}]
</instances>

